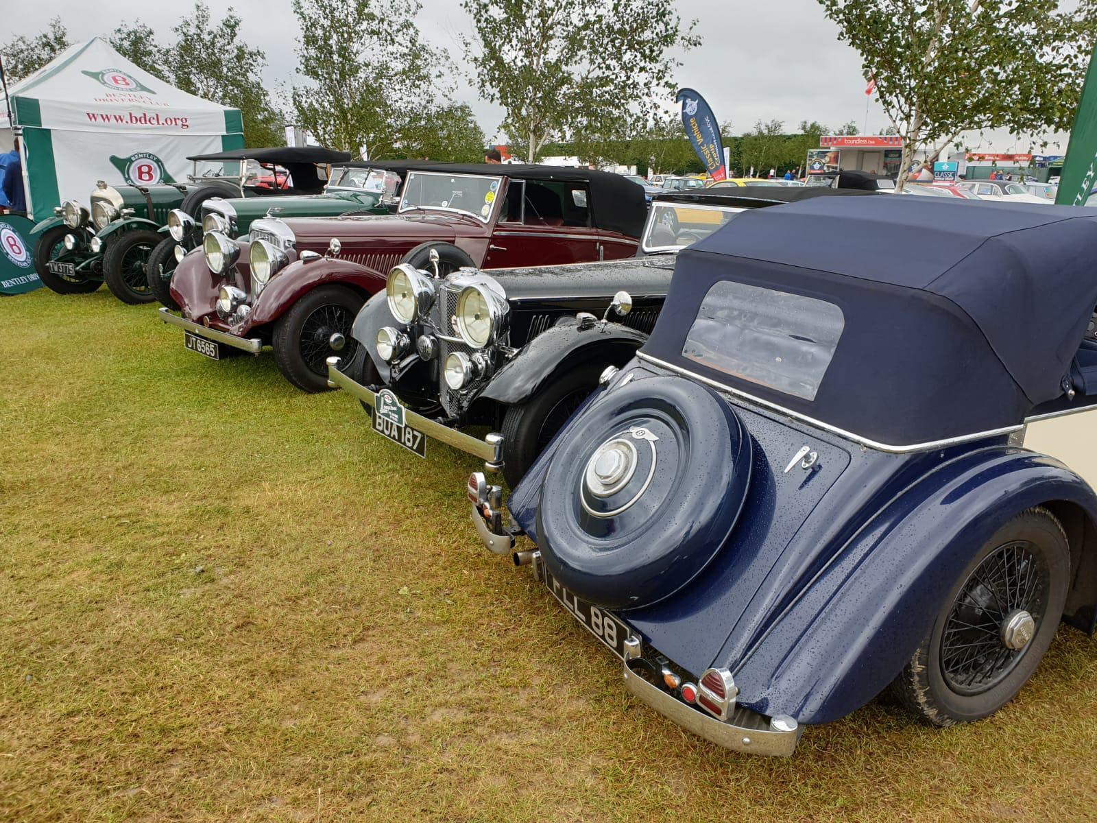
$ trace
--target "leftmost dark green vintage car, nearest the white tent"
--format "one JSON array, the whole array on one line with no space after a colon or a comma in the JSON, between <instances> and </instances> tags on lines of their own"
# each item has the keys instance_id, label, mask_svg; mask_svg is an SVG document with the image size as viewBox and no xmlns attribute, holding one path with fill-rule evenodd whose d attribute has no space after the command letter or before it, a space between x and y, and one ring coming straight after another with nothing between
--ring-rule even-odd
<instances>
[{"instance_id":1,"label":"leftmost dark green vintage car, nearest the white tent","mask_svg":"<svg viewBox=\"0 0 1097 823\"><path fill-rule=\"evenodd\" d=\"M158 164L132 165L123 172L125 184L99 181L90 207L67 201L34 227L35 269L60 294L93 292L105 282L124 303L149 303L156 295L146 268L172 210L194 217L211 198L314 194L323 190L330 164L350 157L310 146L199 155L188 158L194 169L185 183L171 180Z\"/></svg>"}]
</instances>

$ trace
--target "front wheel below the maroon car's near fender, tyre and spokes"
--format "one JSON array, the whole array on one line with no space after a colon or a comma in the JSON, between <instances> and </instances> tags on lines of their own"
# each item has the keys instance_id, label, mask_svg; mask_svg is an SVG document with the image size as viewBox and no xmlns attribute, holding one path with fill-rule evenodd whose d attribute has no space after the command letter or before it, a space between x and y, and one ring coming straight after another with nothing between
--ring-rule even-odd
<instances>
[{"instance_id":1,"label":"front wheel below the maroon car's near fender, tyre and spokes","mask_svg":"<svg viewBox=\"0 0 1097 823\"><path fill-rule=\"evenodd\" d=\"M328 388L327 359L337 354L354 359L358 341L351 336L354 316L365 301L341 285L314 289L274 324L274 360L287 381L303 392ZM343 347L331 347L331 336L342 335Z\"/></svg>"}]
</instances>

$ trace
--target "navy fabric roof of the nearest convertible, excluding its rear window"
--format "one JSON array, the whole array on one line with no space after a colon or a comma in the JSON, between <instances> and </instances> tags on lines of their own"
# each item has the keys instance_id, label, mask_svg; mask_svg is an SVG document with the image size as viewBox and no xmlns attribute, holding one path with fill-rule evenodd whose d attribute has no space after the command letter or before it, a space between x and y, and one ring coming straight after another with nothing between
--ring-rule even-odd
<instances>
[{"instance_id":1,"label":"navy fabric roof of the nearest convertible, excluding its rear window","mask_svg":"<svg viewBox=\"0 0 1097 823\"><path fill-rule=\"evenodd\" d=\"M1097 211L880 195L745 213L681 251L644 351L846 431L909 446L1019 424L1063 393L1097 305ZM733 280L838 305L814 402L682 357Z\"/></svg>"}]
</instances>

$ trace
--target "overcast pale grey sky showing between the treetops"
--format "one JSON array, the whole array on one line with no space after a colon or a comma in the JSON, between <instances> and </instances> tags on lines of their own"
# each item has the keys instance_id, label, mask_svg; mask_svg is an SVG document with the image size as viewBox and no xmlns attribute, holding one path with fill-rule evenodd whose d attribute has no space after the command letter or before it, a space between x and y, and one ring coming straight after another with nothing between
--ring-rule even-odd
<instances>
[{"instance_id":1,"label":"overcast pale grey sky showing between the treetops","mask_svg":"<svg viewBox=\"0 0 1097 823\"><path fill-rule=\"evenodd\" d=\"M140 20L168 35L179 10L190 10L186 0L156 4L113 0L108 5L89 5L88 0L9 2L9 11L15 13L5 15L10 34L5 32L3 40L34 34L55 15L65 21L71 40L108 34L123 20ZM264 77L272 89L293 79L296 21L290 0L207 0L207 4L216 18L229 5L237 10L248 41L267 53ZM790 129L802 120L817 120L830 127L855 121L864 128L867 98L860 57L838 42L837 29L816 0L678 0L677 8L683 20L699 21L698 31L704 37L700 48L680 56L678 82L700 91L721 121L732 121L736 134L757 120L772 119L784 121ZM467 31L471 22L457 0L422 0L418 22L425 40L448 48L461 63L457 35ZM463 78L457 98L472 104L489 137L496 133L501 111L483 102ZM878 133L886 122L880 106L871 102L869 133ZM1007 134L989 135L982 142L973 135L969 142L982 150L1028 149L1027 144L1017 144Z\"/></svg>"}]
</instances>

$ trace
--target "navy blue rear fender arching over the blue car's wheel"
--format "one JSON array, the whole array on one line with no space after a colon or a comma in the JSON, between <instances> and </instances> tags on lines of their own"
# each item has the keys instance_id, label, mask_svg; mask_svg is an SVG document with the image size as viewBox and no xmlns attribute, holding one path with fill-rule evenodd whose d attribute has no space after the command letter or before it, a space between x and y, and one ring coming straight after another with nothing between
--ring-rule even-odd
<instances>
[{"instance_id":1,"label":"navy blue rear fender arching over the blue car's wheel","mask_svg":"<svg viewBox=\"0 0 1097 823\"><path fill-rule=\"evenodd\" d=\"M841 718L909 661L982 544L1011 517L1041 505L1071 508L1086 521L1076 531L1089 535L1086 542L1072 544L1067 604L1075 616L1092 613L1097 496L1053 458L991 447L907 487L771 617L738 661L727 657L730 640L713 665L733 669L748 708L803 723Z\"/></svg>"}]
</instances>

